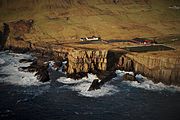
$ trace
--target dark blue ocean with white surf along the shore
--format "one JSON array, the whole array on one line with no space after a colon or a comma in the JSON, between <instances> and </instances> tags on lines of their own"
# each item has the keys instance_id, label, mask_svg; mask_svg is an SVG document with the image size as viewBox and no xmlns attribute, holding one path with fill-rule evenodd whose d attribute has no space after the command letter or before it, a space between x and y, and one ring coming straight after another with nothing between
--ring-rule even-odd
<instances>
[{"instance_id":1,"label":"dark blue ocean with white surf along the shore","mask_svg":"<svg viewBox=\"0 0 180 120\"><path fill-rule=\"evenodd\" d=\"M80 80L62 75L41 83L35 73L18 71L30 65L19 63L22 58L32 56L0 52L0 120L180 120L180 87L142 75L136 76L142 83L122 81L127 72L120 70L95 91L87 91L97 78L91 73ZM57 72L49 63L51 73Z\"/></svg>"}]
</instances>

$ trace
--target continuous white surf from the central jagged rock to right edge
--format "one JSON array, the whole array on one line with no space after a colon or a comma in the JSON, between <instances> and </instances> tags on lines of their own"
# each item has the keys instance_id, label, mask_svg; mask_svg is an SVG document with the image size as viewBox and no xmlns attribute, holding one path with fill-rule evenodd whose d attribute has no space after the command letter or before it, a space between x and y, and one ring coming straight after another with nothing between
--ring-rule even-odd
<instances>
[{"instance_id":1,"label":"continuous white surf from the central jagged rock to right edge","mask_svg":"<svg viewBox=\"0 0 180 120\"><path fill-rule=\"evenodd\" d=\"M80 80L61 77L57 81L66 84L68 86L68 87L66 86L67 88L73 91L77 91L78 94L86 97L101 97L106 95L113 95L114 93L121 91L122 88L119 87L120 84L127 85L129 87L151 90L151 91L180 92L180 87L173 85L168 86L168 85L164 85L163 83L156 84L153 81L148 80L146 77L142 76L141 74L136 75L136 79L142 81L141 83L138 83L137 81L123 81L122 77L126 73L134 75L133 72L116 70L117 77L113 78L112 80L104 84L101 87L101 89L94 91L88 91L88 88L90 87L93 80L97 79L97 76L93 74L88 74L88 77L84 77Z\"/></svg>"}]
</instances>

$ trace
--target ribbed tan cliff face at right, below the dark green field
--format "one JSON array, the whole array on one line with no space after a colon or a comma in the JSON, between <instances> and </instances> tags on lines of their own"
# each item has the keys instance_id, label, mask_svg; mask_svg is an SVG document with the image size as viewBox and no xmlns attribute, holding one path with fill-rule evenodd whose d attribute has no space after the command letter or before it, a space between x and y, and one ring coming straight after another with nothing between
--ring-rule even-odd
<instances>
[{"instance_id":1,"label":"ribbed tan cliff face at right, below the dark green field","mask_svg":"<svg viewBox=\"0 0 180 120\"><path fill-rule=\"evenodd\" d=\"M121 56L118 67L147 76L155 83L180 86L180 60L178 57L127 54Z\"/></svg>"}]
</instances>

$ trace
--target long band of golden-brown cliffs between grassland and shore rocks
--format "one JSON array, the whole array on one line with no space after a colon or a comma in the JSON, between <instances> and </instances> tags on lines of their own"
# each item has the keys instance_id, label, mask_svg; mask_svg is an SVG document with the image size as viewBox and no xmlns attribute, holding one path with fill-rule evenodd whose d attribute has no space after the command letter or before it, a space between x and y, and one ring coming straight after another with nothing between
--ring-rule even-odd
<instances>
[{"instance_id":1,"label":"long band of golden-brown cliffs between grassland and shore rocks","mask_svg":"<svg viewBox=\"0 0 180 120\"><path fill-rule=\"evenodd\" d=\"M33 34L32 20L4 23L1 33L1 45L5 49L35 51L52 59L67 60L66 71L69 75L121 69L145 75L156 83L180 86L180 57L177 51L137 53L122 48L87 49L43 41L31 43L25 35Z\"/></svg>"}]
</instances>

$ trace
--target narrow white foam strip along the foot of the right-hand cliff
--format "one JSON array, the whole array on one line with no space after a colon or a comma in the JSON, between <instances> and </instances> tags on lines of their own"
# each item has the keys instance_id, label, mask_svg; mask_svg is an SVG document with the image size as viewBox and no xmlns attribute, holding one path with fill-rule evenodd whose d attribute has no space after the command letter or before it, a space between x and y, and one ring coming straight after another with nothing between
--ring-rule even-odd
<instances>
[{"instance_id":1,"label":"narrow white foam strip along the foot of the right-hand cliff","mask_svg":"<svg viewBox=\"0 0 180 120\"><path fill-rule=\"evenodd\" d=\"M116 74L118 79L122 80L122 77L124 74L129 73L129 74L134 74L133 72L126 72L126 71L121 71L117 70ZM137 81L122 81L123 83L127 83L130 86L137 87L137 88L143 88L146 90L153 90L153 91L162 91L162 90L168 90L168 91L180 91L180 87L173 86L173 85L164 85L163 83L154 83L152 80L149 80L148 78L144 77L141 74L137 74L136 79L138 80L143 80L144 82L138 83Z\"/></svg>"}]
</instances>

